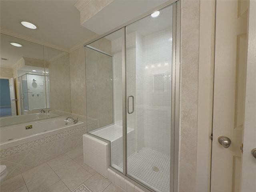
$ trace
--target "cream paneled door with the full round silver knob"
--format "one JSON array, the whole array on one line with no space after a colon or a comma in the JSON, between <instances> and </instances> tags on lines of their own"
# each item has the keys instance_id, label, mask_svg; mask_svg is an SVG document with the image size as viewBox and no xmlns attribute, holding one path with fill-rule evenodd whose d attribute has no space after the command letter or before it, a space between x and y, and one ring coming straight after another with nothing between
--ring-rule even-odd
<instances>
[{"instance_id":1,"label":"cream paneled door with the full round silver knob","mask_svg":"<svg viewBox=\"0 0 256 192\"><path fill-rule=\"evenodd\" d=\"M240 191L247 17L248 1L216 1L211 192Z\"/></svg>"}]
</instances>

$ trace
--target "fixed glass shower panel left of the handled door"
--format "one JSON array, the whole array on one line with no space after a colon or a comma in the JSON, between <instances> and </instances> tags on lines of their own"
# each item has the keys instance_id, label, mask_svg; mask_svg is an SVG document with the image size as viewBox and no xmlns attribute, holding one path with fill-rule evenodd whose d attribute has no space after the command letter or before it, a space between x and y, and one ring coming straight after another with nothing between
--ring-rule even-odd
<instances>
[{"instance_id":1,"label":"fixed glass shower panel left of the handled door","mask_svg":"<svg viewBox=\"0 0 256 192\"><path fill-rule=\"evenodd\" d=\"M87 124L90 124L87 130L110 142L110 164L120 172L123 162L122 30L85 47L86 109Z\"/></svg>"}]
</instances>

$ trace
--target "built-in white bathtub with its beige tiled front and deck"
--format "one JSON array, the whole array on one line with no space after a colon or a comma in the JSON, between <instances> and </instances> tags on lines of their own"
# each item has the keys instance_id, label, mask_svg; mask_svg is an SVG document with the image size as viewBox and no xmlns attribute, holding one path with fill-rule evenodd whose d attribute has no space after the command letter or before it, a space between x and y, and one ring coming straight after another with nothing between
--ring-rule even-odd
<instances>
[{"instance_id":1,"label":"built-in white bathtub with its beige tiled front and deck","mask_svg":"<svg viewBox=\"0 0 256 192\"><path fill-rule=\"evenodd\" d=\"M72 149L82 150L83 134L87 132L87 128L97 128L98 121L91 120L86 124L86 118L79 117L83 122L73 124L68 120L66 125L66 117L1 126L0 160L9 171L6 179ZM26 129L26 126L31 125L31 129Z\"/></svg>"}]
</instances>

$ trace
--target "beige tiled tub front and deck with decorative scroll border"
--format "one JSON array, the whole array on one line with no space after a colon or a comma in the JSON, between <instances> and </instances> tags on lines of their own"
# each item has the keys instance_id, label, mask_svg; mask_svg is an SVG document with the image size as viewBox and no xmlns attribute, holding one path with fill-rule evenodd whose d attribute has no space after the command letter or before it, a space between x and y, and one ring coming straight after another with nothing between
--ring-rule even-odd
<instances>
[{"instance_id":1,"label":"beige tiled tub front and deck with decorative scroll border","mask_svg":"<svg viewBox=\"0 0 256 192\"><path fill-rule=\"evenodd\" d=\"M64 154L73 148L82 147L82 135L87 127L96 126L97 122L75 124L74 126L53 130L29 138L1 144L0 160L8 168L12 178L39 164Z\"/></svg>"}]
</instances>

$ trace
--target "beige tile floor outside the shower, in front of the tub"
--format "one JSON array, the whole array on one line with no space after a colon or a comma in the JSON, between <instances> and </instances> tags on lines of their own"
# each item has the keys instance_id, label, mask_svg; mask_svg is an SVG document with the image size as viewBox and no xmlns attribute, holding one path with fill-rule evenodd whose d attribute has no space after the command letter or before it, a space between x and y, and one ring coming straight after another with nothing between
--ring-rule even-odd
<instances>
[{"instance_id":1,"label":"beige tile floor outside the shower, in front of the tub","mask_svg":"<svg viewBox=\"0 0 256 192\"><path fill-rule=\"evenodd\" d=\"M1 192L123 192L83 162L76 148L1 182Z\"/></svg>"}]
</instances>

